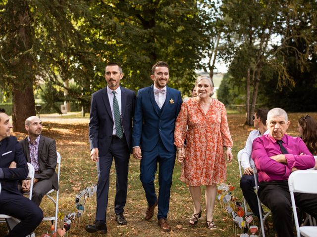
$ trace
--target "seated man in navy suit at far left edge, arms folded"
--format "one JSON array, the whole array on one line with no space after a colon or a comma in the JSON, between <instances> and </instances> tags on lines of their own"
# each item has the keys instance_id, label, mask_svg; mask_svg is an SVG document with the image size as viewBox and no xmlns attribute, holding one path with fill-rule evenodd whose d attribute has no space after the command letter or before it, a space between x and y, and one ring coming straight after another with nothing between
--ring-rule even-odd
<instances>
[{"instance_id":1,"label":"seated man in navy suit at far left edge, arms folded","mask_svg":"<svg viewBox=\"0 0 317 237\"><path fill-rule=\"evenodd\" d=\"M10 136L12 124L0 109L0 214L20 220L6 237L25 237L41 223L42 210L18 191L18 180L26 179L28 165L16 137Z\"/></svg>"}]
</instances>

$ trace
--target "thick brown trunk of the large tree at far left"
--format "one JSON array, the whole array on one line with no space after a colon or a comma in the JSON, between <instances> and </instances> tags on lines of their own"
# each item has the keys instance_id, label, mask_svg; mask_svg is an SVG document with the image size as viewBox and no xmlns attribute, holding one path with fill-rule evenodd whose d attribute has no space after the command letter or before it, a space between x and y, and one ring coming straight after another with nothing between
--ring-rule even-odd
<instances>
[{"instance_id":1,"label":"thick brown trunk of the large tree at far left","mask_svg":"<svg viewBox=\"0 0 317 237\"><path fill-rule=\"evenodd\" d=\"M9 75L12 77L12 124L14 132L25 132L25 119L36 115L33 85L36 63L32 55L34 30L28 1L10 0L7 12L11 21L7 24L10 32L9 45L14 61L10 62Z\"/></svg>"}]
</instances>

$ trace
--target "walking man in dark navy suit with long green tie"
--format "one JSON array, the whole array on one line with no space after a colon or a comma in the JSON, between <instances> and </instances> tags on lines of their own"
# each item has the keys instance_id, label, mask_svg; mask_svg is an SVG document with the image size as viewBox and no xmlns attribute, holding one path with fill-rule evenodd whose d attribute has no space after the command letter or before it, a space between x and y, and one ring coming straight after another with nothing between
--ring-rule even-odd
<instances>
[{"instance_id":1,"label":"walking man in dark navy suit with long green tie","mask_svg":"<svg viewBox=\"0 0 317 237\"><path fill-rule=\"evenodd\" d=\"M115 219L126 225L123 216L127 198L129 158L132 151L132 117L135 93L120 86L121 67L110 63L105 69L107 86L92 95L89 122L90 157L98 162L96 221L86 231L107 233L106 209L109 174L114 158L116 171Z\"/></svg>"}]
</instances>

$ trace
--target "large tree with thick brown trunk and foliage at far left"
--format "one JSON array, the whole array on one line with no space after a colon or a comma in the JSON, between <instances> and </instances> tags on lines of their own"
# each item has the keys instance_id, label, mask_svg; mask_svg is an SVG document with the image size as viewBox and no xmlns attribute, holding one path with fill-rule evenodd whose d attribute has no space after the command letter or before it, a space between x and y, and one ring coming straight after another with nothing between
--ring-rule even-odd
<instances>
[{"instance_id":1,"label":"large tree with thick brown trunk and foliage at far left","mask_svg":"<svg viewBox=\"0 0 317 237\"><path fill-rule=\"evenodd\" d=\"M56 76L73 77L81 37L72 25L83 13L81 1L0 1L0 84L12 95L13 131L35 115L34 86ZM77 15L76 15L77 14ZM76 51L76 53L74 53ZM77 74L84 74L77 70ZM61 82L62 83L62 82Z\"/></svg>"}]
</instances>

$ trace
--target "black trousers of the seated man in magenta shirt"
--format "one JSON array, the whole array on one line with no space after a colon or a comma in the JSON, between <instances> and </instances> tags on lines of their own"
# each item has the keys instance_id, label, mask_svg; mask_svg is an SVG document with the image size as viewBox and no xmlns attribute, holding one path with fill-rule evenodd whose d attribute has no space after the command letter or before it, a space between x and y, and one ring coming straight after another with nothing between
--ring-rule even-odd
<instances>
[{"instance_id":1,"label":"black trousers of the seated man in magenta shirt","mask_svg":"<svg viewBox=\"0 0 317 237\"><path fill-rule=\"evenodd\" d=\"M315 185L312 181L312 185ZM317 218L317 194L295 193L296 206ZM288 182L260 182L259 198L272 212L273 226L278 237L293 237L294 222Z\"/></svg>"}]
</instances>

